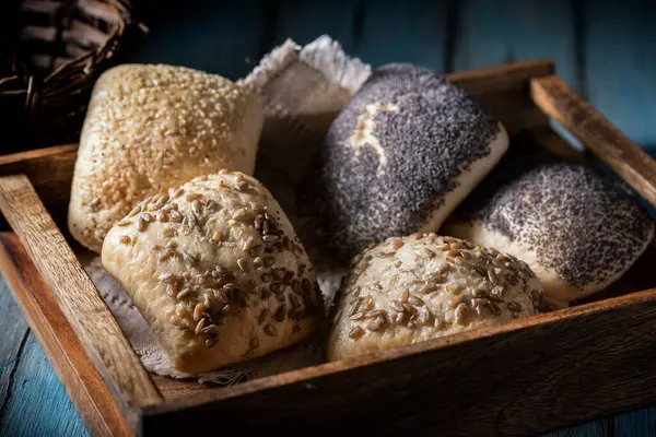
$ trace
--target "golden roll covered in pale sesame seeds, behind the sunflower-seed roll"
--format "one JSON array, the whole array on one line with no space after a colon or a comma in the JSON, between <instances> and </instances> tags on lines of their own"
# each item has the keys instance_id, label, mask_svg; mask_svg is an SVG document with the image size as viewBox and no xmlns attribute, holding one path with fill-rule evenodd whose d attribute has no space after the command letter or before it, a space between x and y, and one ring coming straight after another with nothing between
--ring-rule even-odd
<instances>
[{"instance_id":1,"label":"golden roll covered in pale sesame seeds, behind the sunflower-seed roll","mask_svg":"<svg viewBox=\"0 0 656 437\"><path fill-rule=\"evenodd\" d=\"M222 168L253 174L259 98L183 67L126 64L96 82L71 189L72 236L99 252L112 226L148 196Z\"/></svg>"}]
</instances>

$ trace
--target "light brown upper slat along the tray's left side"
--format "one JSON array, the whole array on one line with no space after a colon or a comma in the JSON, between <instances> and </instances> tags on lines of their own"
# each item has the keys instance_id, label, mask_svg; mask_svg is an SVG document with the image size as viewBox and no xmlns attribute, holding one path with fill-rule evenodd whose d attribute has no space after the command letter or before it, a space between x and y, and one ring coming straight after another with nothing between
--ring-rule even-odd
<instances>
[{"instance_id":1,"label":"light brown upper slat along the tray's left side","mask_svg":"<svg viewBox=\"0 0 656 437\"><path fill-rule=\"evenodd\" d=\"M118 404L130 410L126 400L131 406L161 402L148 371L25 175L0 177L0 211L52 291L98 373L114 388L110 391Z\"/></svg>"}]
</instances>

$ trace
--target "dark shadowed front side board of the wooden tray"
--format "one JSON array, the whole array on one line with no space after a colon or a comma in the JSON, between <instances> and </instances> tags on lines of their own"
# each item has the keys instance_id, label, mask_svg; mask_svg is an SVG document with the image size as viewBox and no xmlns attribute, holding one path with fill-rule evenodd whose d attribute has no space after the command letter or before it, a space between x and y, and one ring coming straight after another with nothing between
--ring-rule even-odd
<instances>
[{"instance_id":1,"label":"dark shadowed front side board of the wooden tray","mask_svg":"<svg viewBox=\"0 0 656 437\"><path fill-rule=\"evenodd\" d=\"M656 401L654 329L656 288L148 406L144 435L528 435Z\"/></svg>"}]
</instances>

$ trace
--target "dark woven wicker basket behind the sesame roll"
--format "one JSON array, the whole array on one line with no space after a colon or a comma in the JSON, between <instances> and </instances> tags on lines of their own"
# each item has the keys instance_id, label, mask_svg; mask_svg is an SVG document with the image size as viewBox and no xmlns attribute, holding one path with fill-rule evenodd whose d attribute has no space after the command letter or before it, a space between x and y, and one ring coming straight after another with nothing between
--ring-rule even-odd
<instances>
[{"instance_id":1,"label":"dark woven wicker basket behind the sesame roll","mask_svg":"<svg viewBox=\"0 0 656 437\"><path fill-rule=\"evenodd\" d=\"M78 141L95 80L145 28L127 0L25 0L3 15L0 111L19 140L2 152Z\"/></svg>"}]
</instances>

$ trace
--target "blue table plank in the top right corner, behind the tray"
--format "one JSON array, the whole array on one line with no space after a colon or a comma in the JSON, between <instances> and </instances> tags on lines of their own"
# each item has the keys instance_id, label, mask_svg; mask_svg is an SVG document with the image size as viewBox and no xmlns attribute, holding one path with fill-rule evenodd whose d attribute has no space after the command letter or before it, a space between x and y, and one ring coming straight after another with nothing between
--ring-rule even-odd
<instances>
[{"instance_id":1,"label":"blue table plank in the top right corner, behind the tray","mask_svg":"<svg viewBox=\"0 0 656 437\"><path fill-rule=\"evenodd\" d=\"M588 1L584 11L588 98L633 141L656 147L656 2Z\"/></svg>"}]
</instances>

